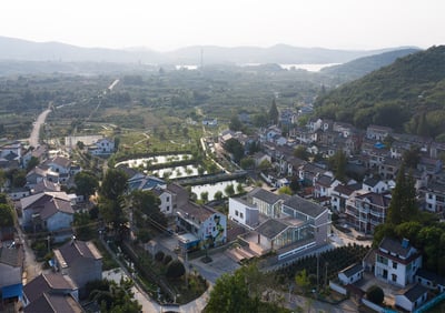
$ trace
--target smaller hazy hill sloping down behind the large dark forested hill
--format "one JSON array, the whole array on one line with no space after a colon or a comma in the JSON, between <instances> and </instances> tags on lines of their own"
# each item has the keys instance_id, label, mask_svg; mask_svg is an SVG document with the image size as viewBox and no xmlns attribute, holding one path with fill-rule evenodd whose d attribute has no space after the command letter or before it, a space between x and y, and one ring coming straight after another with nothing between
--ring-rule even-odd
<instances>
[{"instance_id":1,"label":"smaller hazy hill sloping down behind the large dark forested hill","mask_svg":"<svg viewBox=\"0 0 445 313\"><path fill-rule=\"evenodd\" d=\"M352 81L393 63L397 58L406 57L418 51L421 50L415 48L388 51L380 54L359 58L345 64L324 68L320 72L329 75L336 75L342 81Z\"/></svg>"}]
</instances>

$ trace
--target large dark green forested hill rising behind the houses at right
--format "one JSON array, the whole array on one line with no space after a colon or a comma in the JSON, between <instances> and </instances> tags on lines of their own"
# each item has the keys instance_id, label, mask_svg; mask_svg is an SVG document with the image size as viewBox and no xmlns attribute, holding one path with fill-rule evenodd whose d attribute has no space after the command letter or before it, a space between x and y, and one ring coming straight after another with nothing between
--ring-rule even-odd
<instances>
[{"instance_id":1,"label":"large dark green forested hill rising behind the houses at right","mask_svg":"<svg viewBox=\"0 0 445 313\"><path fill-rule=\"evenodd\" d=\"M445 46L397 59L393 64L318 97L324 118L392 127L445 138Z\"/></svg>"}]
</instances>

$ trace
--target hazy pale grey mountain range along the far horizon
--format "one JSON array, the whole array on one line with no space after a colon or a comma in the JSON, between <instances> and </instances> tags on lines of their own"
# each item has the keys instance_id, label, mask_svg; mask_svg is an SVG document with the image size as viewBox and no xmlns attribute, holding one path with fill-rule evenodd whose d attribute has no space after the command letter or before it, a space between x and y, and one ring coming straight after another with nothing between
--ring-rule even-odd
<instances>
[{"instance_id":1,"label":"hazy pale grey mountain range along the far horizon","mask_svg":"<svg viewBox=\"0 0 445 313\"><path fill-rule=\"evenodd\" d=\"M214 63L280 63L325 64L345 63L358 58L399 50L333 50L323 48L298 48L277 44L270 48L215 46L187 47L169 52L148 49L81 48L60 42L32 42L0 37L0 60L50 61L50 62L112 62L150 64L204 64Z\"/></svg>"}]
</instances>

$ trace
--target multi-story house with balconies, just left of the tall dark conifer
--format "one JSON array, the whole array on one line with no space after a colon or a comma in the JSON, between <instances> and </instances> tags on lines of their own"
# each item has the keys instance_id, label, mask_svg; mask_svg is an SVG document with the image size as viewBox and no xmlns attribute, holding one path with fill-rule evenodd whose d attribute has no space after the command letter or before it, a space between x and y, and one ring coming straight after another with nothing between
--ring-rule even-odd
<instances>
[{"instance_id":1,"label":"multi-story house with balconies, just left of the tall dark conifer","mask_svg":"<svg viewBox=\"0 0 445 313\"><path fill-rule=\"evenodd\" d=\"M346 200L346 220L360 232L373 232L386 220L390 198L368 191L355 191Z\"/></svg>"}]
</instances>

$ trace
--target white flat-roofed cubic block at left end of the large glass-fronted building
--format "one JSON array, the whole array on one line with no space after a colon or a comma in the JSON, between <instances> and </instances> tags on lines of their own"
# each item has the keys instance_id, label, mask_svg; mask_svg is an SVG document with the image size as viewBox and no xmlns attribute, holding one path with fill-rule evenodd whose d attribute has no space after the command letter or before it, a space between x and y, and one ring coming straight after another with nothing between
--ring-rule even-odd
<instances>
[{"instance_id":1,"label":"white flat-roofed cubic block at left end of the large glass-fronted building","mask_svg":"<svg viewBox=\"0 0 445 313\"><path fill-rule=\"evenodd\" d=\"M259 223L256 204L246 198L229 198L229 219L253 230Z\"/></svg>"}]
</instances>

